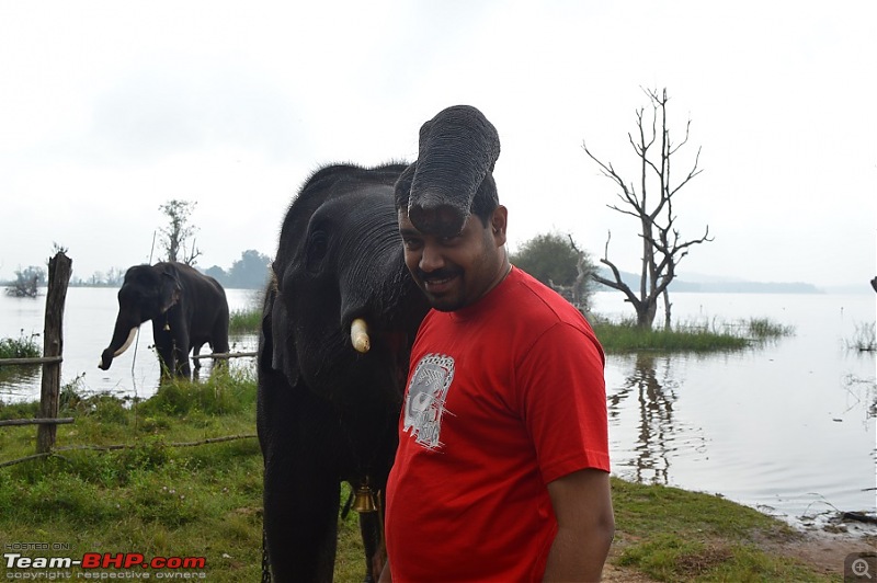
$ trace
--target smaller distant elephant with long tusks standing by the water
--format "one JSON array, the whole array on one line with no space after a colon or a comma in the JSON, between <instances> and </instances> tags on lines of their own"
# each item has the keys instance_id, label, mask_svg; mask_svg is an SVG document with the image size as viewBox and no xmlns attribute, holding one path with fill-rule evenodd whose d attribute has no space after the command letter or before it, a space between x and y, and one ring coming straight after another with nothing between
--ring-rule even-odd
<instances>
[{"instance_id":1,"label":"smaller distant elephant with long tusks standing by the water","mask_svg":"<svg viewBox=\"0 0 877 583\"><path fill-rule=\"evenodd\" d=\"M197 355L204 344L214 353L228 352L228 300L216 279L184 263L135 265L125 272L113 339L99 367L109 369L147 320L152 320L162 376L190 377L189 353Z\"/></svg>"}]
</instances>

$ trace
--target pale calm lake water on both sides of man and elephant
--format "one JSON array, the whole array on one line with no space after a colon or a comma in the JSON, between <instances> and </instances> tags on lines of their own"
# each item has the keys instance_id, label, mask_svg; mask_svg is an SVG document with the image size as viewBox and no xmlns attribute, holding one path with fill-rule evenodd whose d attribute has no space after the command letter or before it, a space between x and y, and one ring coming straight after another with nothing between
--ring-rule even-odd
<instances>
[{"instance_id":1,"label":"pale calm lake water on both sides of man and elephant","mask_svg":"<svg viewBox=\"0 0 877 583\"><path fill-rule=\"evenodd\" d=\"M148 397L159 377L149 324L140 328L136 351L133 345L107 371L98 368L116 292L68 290L62 382L79 378L83 392ZM227 294L231 310L259 304L259 292ZM874 325L877 296L675 294L672 301L682 322L768 318L795 327L795 334L732 354L610 355L613 473L721 494L796 525L836 511L877 512L875 353L847 347L856 327ZM594 306L606 316L633 315L616 293L597 293ZM44 296L0 294L0 338L42 333L44 310ZM249 352L257 339L231 343L232 352ZM209 365L202 370L209 374ZM0 401L38 398L38 368L7 375Z\"/></svg>"}]
</instances>

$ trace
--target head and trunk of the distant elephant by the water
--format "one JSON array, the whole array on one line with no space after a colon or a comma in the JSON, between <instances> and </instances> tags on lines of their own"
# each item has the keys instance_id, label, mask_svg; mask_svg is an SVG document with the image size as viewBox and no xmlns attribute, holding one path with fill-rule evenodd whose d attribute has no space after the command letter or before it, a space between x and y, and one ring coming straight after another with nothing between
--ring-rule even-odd
<instances>
[{"instance_id":1,"label":"head and trunk of the distant elephant by the water","mask_svg":"<svg viewBox=\"0 0 877 583\"><path fill-rule=\"evenodd\" d=\"M160 318L176 304L180 294L180 279L169 264L135 265L125 272L113 339L101 354L99 367L107 370L113 358L128 350L140 324Z\"/></svg>"}]
</instances>

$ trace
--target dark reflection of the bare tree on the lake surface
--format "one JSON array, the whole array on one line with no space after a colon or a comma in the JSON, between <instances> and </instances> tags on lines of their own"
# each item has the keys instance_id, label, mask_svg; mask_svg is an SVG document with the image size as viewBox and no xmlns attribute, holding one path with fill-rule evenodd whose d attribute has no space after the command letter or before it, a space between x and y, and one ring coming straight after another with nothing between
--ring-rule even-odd
<instances>
[{"instance_id":1,"label":"dark reflection of the bare tree on the lake surface","mask_svg":"<svg viewBox=\"0 0 877 583\"><path fill-rule=\"evenodd\" d=\"M671 464L681 449L695 456L706 450L699 428L676 419L679 358L651 353L616 358L624 380L614 387L607 384L607 408L610 432L618 434L613 443L623 449L622 458L614 456L615 472L625 479L669 484ZM627 431L634 433L625 435Z\"/></svg>"}]
</instances>

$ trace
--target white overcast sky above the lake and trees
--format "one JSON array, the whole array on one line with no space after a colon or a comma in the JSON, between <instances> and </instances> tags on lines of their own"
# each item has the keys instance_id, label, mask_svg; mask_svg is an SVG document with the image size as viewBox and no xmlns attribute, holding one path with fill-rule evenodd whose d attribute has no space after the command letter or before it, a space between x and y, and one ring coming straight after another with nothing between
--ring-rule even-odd
<instances>
[{"instance_id":1,"label":"white overcast sky above the lake and trees","mask_svg":"<svg viewBox=\"0 0 877 583\"><path fill-rule=\"evenodd\" d=\"M412 160L454 104L497 126L512 250L570 233L637 271L637 221L582 150L638 181L627 134L667 88L702 148L679 267L756 282L877 275L877 2L0 3L0 279L66 247L73 276L149 262L196 201L198 266L273 258L323 163Z\"/></svg>"}]
</instances>

